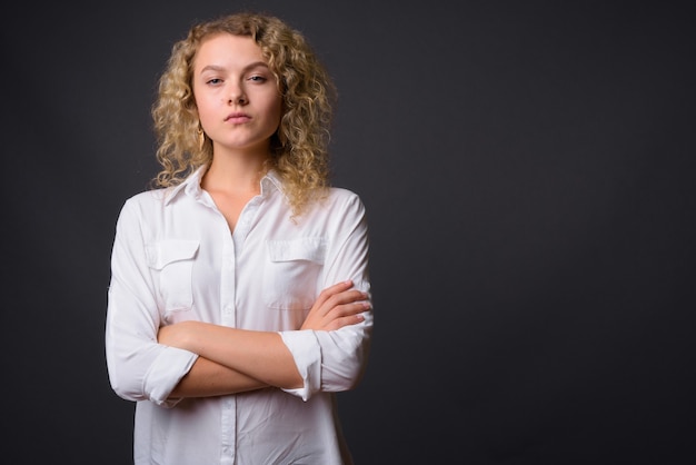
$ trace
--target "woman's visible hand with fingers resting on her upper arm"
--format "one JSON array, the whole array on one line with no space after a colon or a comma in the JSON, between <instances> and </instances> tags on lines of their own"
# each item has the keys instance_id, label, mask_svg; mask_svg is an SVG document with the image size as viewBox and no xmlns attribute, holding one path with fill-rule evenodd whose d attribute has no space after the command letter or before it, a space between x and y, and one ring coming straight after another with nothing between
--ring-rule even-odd
<instances>
[{"instance_id":1,"label":"woman's visible hand with fingers resting on her upper arm","mask_svg":"<svg viewBox=\"0 0 696 465\"><path fill-rule=\"evenodd\" d=\"M352 289L352 281L327 287L319 294L300 329L335 330L365 320L364 311L370 309L369 296Z\"/></svg>"}]
</instances>

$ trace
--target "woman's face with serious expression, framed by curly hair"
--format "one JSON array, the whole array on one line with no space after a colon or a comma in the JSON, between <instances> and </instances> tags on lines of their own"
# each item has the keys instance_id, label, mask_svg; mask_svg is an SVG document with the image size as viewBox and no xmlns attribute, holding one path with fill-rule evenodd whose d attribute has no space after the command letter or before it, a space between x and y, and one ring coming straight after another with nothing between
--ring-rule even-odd
<instances>
[{"instance_id":1,"label":"woman's face with serious expression, framed by curly hair","mask_svg":"<svg viewBox=\"0 0 696 465\"><path fill-rule=\"evenodd\" d=\"M193 63L193 97L213 150L268 155L282 97L261 49L246 36L206 39Z\"/></svg>"}]
</instances>

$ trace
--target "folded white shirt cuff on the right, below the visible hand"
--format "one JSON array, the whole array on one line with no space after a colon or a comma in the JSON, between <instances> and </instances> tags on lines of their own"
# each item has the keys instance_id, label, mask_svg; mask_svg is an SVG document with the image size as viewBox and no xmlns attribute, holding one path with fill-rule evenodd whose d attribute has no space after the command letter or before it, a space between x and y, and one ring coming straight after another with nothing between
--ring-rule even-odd
<instances>
[{"instance_id":1,"label":"folded white shirt cuff on the right, below the visible hand","mask_svg":"<svg viewBox=\"0 0 696 465\"><path fill-rule=\"evenodd\" d=\"M292 354L295 365L302 377L302 387L282 390L307 402L321 388L321 346L311 329L278 334Z\"/></svg>"}]
</instances>

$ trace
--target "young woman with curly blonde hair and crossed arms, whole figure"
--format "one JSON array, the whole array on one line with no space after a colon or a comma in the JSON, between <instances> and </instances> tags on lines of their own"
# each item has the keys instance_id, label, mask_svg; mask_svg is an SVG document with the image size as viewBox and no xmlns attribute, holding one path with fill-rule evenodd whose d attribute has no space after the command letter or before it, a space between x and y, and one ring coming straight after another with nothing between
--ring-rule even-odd
<instances>
[{"instance_id":1,"label":"young woman with curly blonde hair and crossed arms, whole figure","mask_svg":"<svg viewBox=\"0 0 696 465\"><path fill-rule=\"evenodd\" d=\"M152 108L161 171L111 258L109 378L136 464L350 464L336 392L372 328L359 197L331 187L334 87L264 14L195 26Z\"/></svg>"}]
</instances>

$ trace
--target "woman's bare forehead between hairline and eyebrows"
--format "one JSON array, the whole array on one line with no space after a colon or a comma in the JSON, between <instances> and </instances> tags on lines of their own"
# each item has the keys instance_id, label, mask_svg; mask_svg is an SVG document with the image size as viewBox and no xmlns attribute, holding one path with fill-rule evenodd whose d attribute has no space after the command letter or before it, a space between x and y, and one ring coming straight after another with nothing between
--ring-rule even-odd
<instances>
[{"instance_id":1,"label":"woman's bare forehead between hairline and eyebrows","mask_svg":"<svg viewBox=\"0 0 696 465\"><path fill-rule=\"evenodd\" d=\"M193 68L206 66L246 67L266 62L261 48L248 36L218 33L203 39L196 53Z\"/></svg>"}]
</instances>

